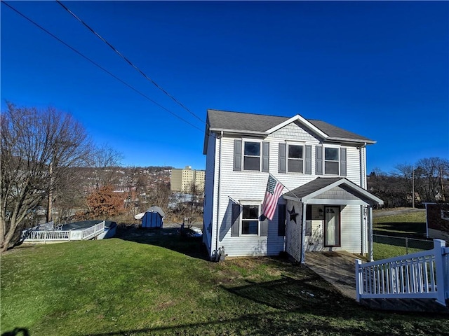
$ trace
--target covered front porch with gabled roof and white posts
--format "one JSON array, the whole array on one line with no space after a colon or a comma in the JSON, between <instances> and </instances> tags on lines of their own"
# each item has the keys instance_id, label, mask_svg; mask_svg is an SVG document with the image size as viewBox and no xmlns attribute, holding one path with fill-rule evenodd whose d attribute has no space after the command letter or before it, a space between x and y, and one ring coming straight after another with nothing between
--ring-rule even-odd
<instances>
[{"instance_id":1,"label":"covered front porch with gabled roof and white posts","mask_svg":"<svg viewBox=\"0 0 449 336\"><path fill-rule=\"evenodd\" d=\"M286 252L306 262L308 251L348 251L373 260L375 195L345 178L319 177L283 195Z\"/></svg>"}]
</instances>

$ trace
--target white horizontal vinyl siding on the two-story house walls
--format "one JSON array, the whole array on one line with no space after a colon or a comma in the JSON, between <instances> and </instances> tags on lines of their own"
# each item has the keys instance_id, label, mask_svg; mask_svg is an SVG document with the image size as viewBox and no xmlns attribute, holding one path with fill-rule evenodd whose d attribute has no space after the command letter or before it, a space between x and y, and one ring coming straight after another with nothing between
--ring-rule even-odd
<instances>
[{"instance_id":1,"label":"white horizontal vinyl siding on the two-story house walls","mask_svg":"<svg viewBox=\"0 0 449 336\"><path fill-rule=\"evenodd\" d=\"M206 207L204 209L204 224L207 228L209 222L213 225L219 225L218 228L218 246L225 246L225 253L229 256L244 255L278 255L283 251L284 237L278 236L278 211L274 214L272 221L268 224L267 237L260 235L241 235L231 237L232 222L232 203L245 201L253 204L262 204L267 180L267 172L245 171L242 166L241 172L235 172L234 168L234 139L242 140L241 137L225 136L215 141L215 137L209 137L208 157L206 158ZM279 144L286 144L287 141L302 141L304 146L311 145L311 173L312 174L280 174L279 173ZM220 153L220 141L222 141L221 153L221 176L220 176L220 200L218 195L218 160ZM255 141L269 142L269 172L276 179L281 181L286 187L283 193L293 190L304 183L316 179L315 175L315 146L320 145L319 139L312 134L302 130L296 123L286 125L281 130L269 134L264 139L255 139ZM288 144L288 142L287 142ZM326 146L326 144L324 144ZM345 146L347 148L347 176L350 181L359 184L361 180L360 172L360 151L356 146ZM262 151L262 145L261 145ZM215 150L215 153L214 153ZM364 148L363 148L364 151ZM214 155L215 154L215 155ZM242 151L243 157L243 151ZM211 160L212 158L212 160ZM215 159L215 165L213 163ZM243 160L243 158L242 158ZM209 171L212 171L210 173ZM279 202L284 202L280 199ZM220 205L220 211L217 211L217 204ZM299 204L299 203L297 203ZM288 207L288 209L290 209ZM296 209L296 208L295 208ZM299 211L299 209L297 209ZM217 214L220 218L217 218ZM291 229L291 224L287 214L287 230ZM316 225L316 226L315 226ZM312 230L318 227L319 223L312 223ZM321 225L322 228L322 225ZM215 249L216 226L212 232L207 233L206 238L210 241L210 249ZM290 232L291 233L291 232ZM287 236L288 232L286 232ZM366 236L365 236L366 237ZM338 249L346 250L352 253L361 252L361 210L360 206L342 207L341 216L341 244ZM335 248L333 248L335 250ZM210 251L212 253L212 251Z\"/></svg>"}]
</instances>

